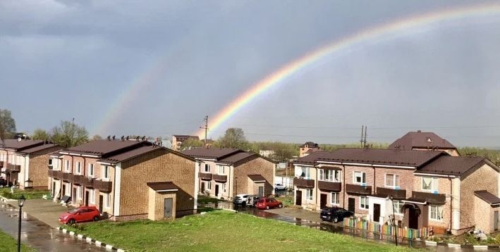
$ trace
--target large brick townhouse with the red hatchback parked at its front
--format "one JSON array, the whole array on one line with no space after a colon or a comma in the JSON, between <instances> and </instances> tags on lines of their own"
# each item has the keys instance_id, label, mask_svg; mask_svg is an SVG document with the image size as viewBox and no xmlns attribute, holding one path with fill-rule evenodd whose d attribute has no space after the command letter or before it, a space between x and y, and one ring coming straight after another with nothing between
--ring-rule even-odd
<instances>
[{"instance_id":1,"label":"large brick townhouse with the red hatchback parked at its front","mask_svg":"<svg viewBox=\"0 0 500 252\"><path fill-rule=\"evenodd\" d=\"M96 140L51 155L49 189L111 220L173 219L196 212L197 161L139 139Z\"/></svg>"}]
</instances>

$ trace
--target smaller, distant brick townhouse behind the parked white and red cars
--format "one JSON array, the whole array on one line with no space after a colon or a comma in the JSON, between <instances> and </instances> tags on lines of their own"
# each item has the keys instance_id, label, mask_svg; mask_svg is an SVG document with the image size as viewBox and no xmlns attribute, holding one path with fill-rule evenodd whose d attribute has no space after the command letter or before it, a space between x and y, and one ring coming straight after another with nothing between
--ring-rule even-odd
<instances>
[{"instance_id":1,"label":"smaller, distant brick townhouse behind the parked white and red cars","mask_svg":"<svg viewBox=\"0 0 500 252\"><path fill-rule=\"evenodd\" d=\"M274 194L276 163L240 149L196 148L183 151L200 160L200 194L232 199L236 194Z\"/></svg>"}]
</instances>

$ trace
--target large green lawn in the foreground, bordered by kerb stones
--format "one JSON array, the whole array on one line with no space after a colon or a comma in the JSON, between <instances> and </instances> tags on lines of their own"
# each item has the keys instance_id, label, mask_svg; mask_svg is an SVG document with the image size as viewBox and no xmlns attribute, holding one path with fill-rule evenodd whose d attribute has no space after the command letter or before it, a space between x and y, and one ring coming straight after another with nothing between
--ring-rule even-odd
<instances>
[{"instance_id":1,"label":"large green lawn in the foreground, bordered by kerb stones","mask_svg":"<svg viewBox=\"0 0 500 252\"><path fill-rule=\"evenodd\" d=\"M408 250L224 210L173 222L93 222L66 228L127 251Z\"/></svg>"}]
</instances>

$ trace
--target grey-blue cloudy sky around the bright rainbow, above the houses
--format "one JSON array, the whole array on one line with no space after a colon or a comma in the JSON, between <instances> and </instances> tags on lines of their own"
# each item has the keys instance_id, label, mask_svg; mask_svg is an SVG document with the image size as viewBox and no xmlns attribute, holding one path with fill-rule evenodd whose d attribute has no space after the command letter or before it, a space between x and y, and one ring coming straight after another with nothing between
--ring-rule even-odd
<instances>
[{"instance_id":1,"label":"grey-blue cloudy sky around the bright rainbow, above the houses","mask_svg":"<svg viewBox=\"0 0 500 252\"><path fill-rule=\"evenodd\" d=\"M0 108L18 131L194 134L267 75L395 20L494 1L0 0ZM465 16L322 58L221 127L250 141L391 143L432 131L500 146L500 13ZM210 124L209 124L210 127Z\"/></svg>"}]
</instances>

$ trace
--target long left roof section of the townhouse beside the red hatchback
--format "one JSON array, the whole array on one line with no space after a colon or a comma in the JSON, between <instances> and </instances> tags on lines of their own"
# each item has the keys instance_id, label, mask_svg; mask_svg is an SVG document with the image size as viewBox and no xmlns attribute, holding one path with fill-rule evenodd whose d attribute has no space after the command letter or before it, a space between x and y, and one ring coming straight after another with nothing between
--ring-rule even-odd
<instances>
[{"instance_id":1,"label":"long left roof section of the townhouse beside the red hatchback","mask_svg":"<svg viewBox=\"0 0 500 252\"><path fill-rule=\"evenodd\" d=\"M95 140L87 144L63 149L63 152L88 154L95 156L112 156L118 152L127 151L128 149L135 149L139 146L151 146L149 141L121 141L121 140Z\"/></svg>"}]
</instances>

